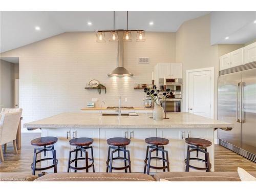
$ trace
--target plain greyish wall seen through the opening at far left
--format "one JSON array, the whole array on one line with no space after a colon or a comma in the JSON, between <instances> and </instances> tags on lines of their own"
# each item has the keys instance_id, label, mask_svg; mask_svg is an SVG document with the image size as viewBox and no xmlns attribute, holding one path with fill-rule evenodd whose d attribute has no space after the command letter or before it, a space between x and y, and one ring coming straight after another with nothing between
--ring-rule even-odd
<instances>
[{"instance_id":1,"label":"plain greyish wall seen through the opening at far left","mask_svg":"<svg viewBox=\"0 0 256 192\"><path fill-rule=\"evenodd\" d=\"M14 63L0 59L0 108L14 107ZM1 110L0 109L0 110Z\"/></svg>"}]
</instances>

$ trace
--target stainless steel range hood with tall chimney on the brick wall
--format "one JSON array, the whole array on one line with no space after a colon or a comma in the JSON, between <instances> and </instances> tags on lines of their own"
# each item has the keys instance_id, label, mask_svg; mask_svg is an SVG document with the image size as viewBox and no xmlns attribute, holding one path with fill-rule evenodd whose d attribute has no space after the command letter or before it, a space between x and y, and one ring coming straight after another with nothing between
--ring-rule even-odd
<instances>
[{"instance_id":1,"label":"stainless steel range hood with tall chimney on the brick wall","mask_svg":"<svg viewBox=\"0 0 256 192\"><path fill-rule=\"evenodd\" d=\"M123 32L117 32L117 68L114 69L108 76L133 76L127 69L123 67Z\"/></svg>"}]
</instances>

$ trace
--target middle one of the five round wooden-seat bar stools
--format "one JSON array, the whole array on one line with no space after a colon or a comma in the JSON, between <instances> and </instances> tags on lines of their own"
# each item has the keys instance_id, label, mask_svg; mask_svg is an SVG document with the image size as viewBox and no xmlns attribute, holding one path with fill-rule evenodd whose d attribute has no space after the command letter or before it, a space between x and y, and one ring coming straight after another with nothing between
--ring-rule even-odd
<instances>
[{"instance_id":1,"label":"middle one of the five round wooden-seat bar stools","mask_svg":"<svg viewBox=\"0 0 256 192\"><path fill-rule=\"evenodd\" d=\"M129 145L131 143L130 139L122 138L122 137L114 137L106 140L106 143L108 143L109 146L109 152L108 152L108 160L106 161L106 173L112 172L112 170L122 170L124 169L124 172L127 173L127 168L129 168L129 172L132 173L131 170L131 159L130 159L130 151L126 150L126 145ZM111 151L111 149L113 151ZM123 152L124 157L120 157L120 151ZM118 157L113 157L114 153L118 153ZM127 158L126 158L127 153ZM123 167L114 167L113 161L121 159L124 161ZM128 162L128 165L127 165Z\"/></svg>"}]
</instances>

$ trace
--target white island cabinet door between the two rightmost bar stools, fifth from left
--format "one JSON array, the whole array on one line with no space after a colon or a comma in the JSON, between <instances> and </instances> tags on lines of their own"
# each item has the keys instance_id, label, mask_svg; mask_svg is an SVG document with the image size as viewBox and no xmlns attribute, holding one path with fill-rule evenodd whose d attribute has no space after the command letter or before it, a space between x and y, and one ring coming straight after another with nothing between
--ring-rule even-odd
<instances>
[{"instance_id":1,"label":"white island cabinet door between the two rightmost bar stools, fifth from left","mask_svg":"<svg viewBox=\"0 0 256 192\"><path fill-rule=\"evenodd\" d=\"M164 149L168 151L170 172L184 172L185 129L157 129L157 137L169 140L169 144L165 145ZM162 162L157 162L157 166L162 166Z\"/></svg>"}]
</instances>

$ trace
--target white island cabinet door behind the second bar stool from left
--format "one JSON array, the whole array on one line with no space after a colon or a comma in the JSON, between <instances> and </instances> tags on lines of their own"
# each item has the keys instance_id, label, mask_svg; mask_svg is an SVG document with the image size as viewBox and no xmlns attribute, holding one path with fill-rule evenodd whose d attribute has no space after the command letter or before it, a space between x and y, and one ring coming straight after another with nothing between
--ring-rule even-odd
<instances>
[{"instance_id":1,"label":"white island cabinet door behind the second bar stool from left","mask_svg":"<svg viewBox=\"0 0 256 192\"><path fill-rule=\"evenodd\" d=\"M91 146L93 147L93 156L94 156L94 167L95 172L99 172L99 129L71 129L71 137L78 138L78 137L89 137L93 139L93 144ZM73 150L75 147L71 146L71 150ZM88 157L91 158L91 150L88 151ZM85 153L82 153L82 157L85 157ZM78 157L80 157L80 153L78 154ZM75 158L75 153L72 153L72 159ZM89 161L89 164L90 161ZM85 161L81 160L78 161L77 166L83 167L85 165ZM84 170L77 170L77 172L86 172L86 169ZM89 169L89 172L92 172L92 167Z\"/></svg>"}]
</instances>

